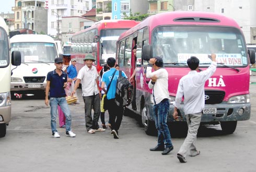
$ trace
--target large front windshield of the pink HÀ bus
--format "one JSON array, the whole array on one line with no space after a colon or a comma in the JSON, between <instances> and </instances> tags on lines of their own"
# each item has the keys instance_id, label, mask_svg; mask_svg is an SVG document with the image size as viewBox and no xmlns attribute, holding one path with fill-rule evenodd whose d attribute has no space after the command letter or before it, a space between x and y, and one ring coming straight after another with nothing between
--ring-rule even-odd
<instances>
[{"instance_id":1,"label":"large front windshield of the pink H\u00c0 bus","mask_svg":"<svg viewBox=\"0 0 256 172\"><path fill-rule=\"evenodd\" d=\"M164 64L187 65L196 56L200 67L209 66L208 55L216 54L217 63L247 66L247 47L242 34L235 28L213 26L162 26L152 34L153 56L162 57Z\"/></svg>"}]
</instances>

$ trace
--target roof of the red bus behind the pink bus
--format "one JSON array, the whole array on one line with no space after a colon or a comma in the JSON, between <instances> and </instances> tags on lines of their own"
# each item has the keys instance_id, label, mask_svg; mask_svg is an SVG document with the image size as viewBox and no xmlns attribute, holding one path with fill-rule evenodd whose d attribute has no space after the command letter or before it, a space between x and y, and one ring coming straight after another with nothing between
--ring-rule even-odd
<instances>
[{"instance_id":1,"label":"roof of the red bus behind the pink bus","mask_svg":"<svg viewBox=\"0 0 256 172\"><path fill-rule=\"evenodd\" d=\"M97 28L97 29L132 28L138 23L139 21L135 21L135 20L100 20L98 22L93 23L91 27L74 33L73 36L94 28Z\"/></svg>"}]
</instances>

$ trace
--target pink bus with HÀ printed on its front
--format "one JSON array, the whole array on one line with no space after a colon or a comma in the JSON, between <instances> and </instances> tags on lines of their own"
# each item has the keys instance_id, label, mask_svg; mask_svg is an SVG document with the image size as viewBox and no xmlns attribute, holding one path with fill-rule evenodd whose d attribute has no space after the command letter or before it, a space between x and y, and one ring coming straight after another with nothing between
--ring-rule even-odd
<instances>
[{"instance_id":1,"label":"pink bus with H\u00c0 printed on its front","mask_svg":"<svg viewBox=\"0 0 256 172\"><path fill-rule=\"evenodd\" d=\"M136 45L137 60L132 48ZM173 119L173 102L181 77L190 71L187 59L200 59L200 70L211 64L208 55L215 53L217 70L205 83L203 124L220 124L223 132L235 131L237 121L248 120L251 113L249 66L255 63L255 51L247 51L240 26L232 19L213 13L169 12L150 16L123 33L117 42L117 61L120 70L131 77L136 68L135 99L127 108L141 115L147 134L154 133L153 95L145 76L148 60L162 57L169 73L170 110L167 120ZM131 63L129 63L131 62ZM135 66L137 64L137 66ZM185 116L180 109L181 118ZM178 124L178 123L176 123Z\"/></svg>"}]
</instances>

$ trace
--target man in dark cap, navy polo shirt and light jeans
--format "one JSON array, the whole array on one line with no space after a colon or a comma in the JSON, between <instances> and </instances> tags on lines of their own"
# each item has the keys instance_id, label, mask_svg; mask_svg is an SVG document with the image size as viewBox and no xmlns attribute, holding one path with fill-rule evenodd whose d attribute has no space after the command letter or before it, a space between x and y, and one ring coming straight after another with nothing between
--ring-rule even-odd
<instances>
[{"instance_id":1,"label":"man in dark cap, navy polo shirt and light jeans","mask_svg":"<svg viewBox=\"0 0 256 172\"><path fill-rule=\"evenodd\" d=\"M57 107L60 105L66 117L66 136L75 137L76 134L71 131L71 112L66 101L66 93L64 88L67 87L67 73L62 71L63 59L55 58L54 65L56 69L48 72L45 88L45 105L49 105L48 94L50 90L50 106L51 106L51 129L52 137L60 138L60 134L56 129Z\"/></svg>"}]
</instances>

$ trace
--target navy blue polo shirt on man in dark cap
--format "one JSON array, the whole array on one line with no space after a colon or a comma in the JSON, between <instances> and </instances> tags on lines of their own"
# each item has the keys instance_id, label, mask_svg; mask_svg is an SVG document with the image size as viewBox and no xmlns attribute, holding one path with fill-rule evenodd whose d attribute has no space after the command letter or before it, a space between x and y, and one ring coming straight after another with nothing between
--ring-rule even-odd
<instances>
[{"instance_id":1,"label":"navy blue polo shirt on man in dark cap","mask_svg":"<svg viewBox=\"0 0 256 172\"><path fill-rule=\"evenodd\" d=\"M63 88L67 82L67 73L62 71L61 76L55 70L48 72L47 81L50 81L50 97L65 97L66 92Z\"/></svg>"}]
</instances>

